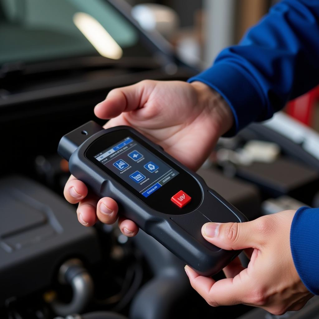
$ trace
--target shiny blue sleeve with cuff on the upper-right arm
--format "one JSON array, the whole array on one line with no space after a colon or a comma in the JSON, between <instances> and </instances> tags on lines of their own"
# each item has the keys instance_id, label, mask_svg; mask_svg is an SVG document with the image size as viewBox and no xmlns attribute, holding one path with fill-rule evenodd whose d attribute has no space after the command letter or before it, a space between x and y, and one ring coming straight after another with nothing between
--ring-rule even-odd
<instances>
[{"instance_id":1,"label":"shiny blue sleeve with cuff on the upper-right arm","mask_svg":"<svg viewBox=\"0 0 319 319\"><path fill-rule=\"evenodd\" d=\"M226 136L270 118L319 83L319 0L279 2L192 81L211 86L232 108Z\"/></svg>"}]
</instances>

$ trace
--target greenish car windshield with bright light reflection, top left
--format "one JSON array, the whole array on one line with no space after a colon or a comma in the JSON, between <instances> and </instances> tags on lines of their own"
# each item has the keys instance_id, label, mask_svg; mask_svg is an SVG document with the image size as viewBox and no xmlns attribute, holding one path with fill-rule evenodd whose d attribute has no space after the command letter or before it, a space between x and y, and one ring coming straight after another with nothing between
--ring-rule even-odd
<instances>
[{"instance_id":1,"label":"greenish car windshield with bright light reflection, top left","mask_svg":"<svg viewBox=\"0 0 319 319\"><path fill-rule=\"evenodd\" d=\"M73 56L151 56L106 0L0 0L0 64Z\"/></svg>"}]
</instances>

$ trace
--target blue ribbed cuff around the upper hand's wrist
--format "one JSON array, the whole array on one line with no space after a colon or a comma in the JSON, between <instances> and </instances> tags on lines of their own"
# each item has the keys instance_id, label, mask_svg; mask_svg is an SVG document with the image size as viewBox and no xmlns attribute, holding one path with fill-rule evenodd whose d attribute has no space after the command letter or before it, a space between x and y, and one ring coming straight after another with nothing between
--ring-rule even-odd
<instances>
[{"instance_id":1,"label":"blue ribbed cuff around the upper hand's wrist","mask_svg":"<svg viewBox=\"0 0 319 319\"><path fill-rule=\"evenodd\" d=\"M209 85L226 100L234 115L234 126L224 135L228 137L258 120L264 104L258 88L239 69L235 64L215 63L188 80Z\"/></svg>"}]
</instances>

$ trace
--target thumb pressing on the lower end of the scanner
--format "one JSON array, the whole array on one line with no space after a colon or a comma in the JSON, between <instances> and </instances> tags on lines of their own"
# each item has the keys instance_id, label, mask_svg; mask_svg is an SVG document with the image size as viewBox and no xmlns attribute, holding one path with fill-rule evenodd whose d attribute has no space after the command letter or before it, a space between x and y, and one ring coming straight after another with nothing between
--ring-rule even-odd
<instances>
[{"instance_id":1,"label":"thumb pressing on the lower end of the scanner","mask_svg":"<svg viewBox=\"0 0 319 319\"><path fill-rule=\"evenodd\" d=\"M202 234L211 244L226 250L260 248L264 242L262 223L258 219L245 223L206 223Z\"/></svg>"}]
</instances>

